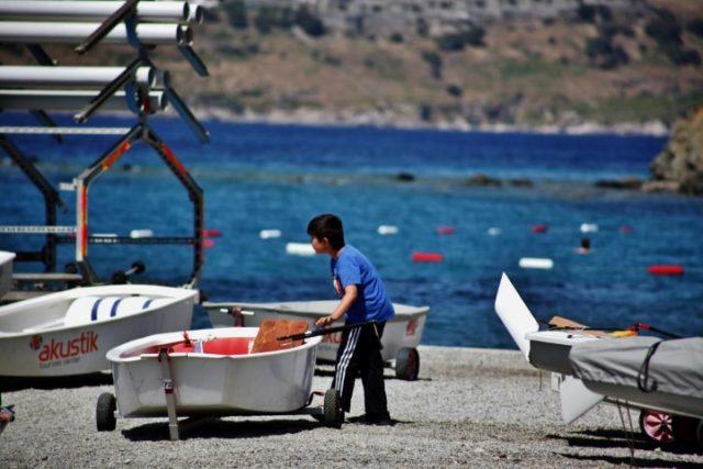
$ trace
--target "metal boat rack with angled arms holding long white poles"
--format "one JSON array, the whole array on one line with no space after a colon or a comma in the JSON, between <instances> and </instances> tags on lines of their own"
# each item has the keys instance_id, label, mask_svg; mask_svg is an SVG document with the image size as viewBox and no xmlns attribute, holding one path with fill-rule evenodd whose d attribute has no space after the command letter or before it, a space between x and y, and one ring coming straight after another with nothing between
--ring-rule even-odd
<instances>
[{"instance_id":1,"label":"metal boat rack with angled arms holding long white poles","mask_svg":"<svg viewBox=\"0 0 703 469\"><path fill-rule=\"evenodd\" d=\"M69 3L75 4L71 8ZM96 3L88 5L88 3ZM160 3L160 4L159 4ZM174 3L170 7L166 3ZM20 253L18 260L40 260L44 264L47 272L45 277L51 277L51 271L56 269L56 246L59 243L75 243L75 259L77 267L80 269L82 283L94 284L99 282L99 278L93 271L88 258L89 244L185 244L193 246L193 265L187 286L196 288L200 281L203 265L203 191L190 176L186 167L178 160L174 152L168 145L154 132L147 123L148 114L154 112L154 96L163 96L168 103L172 104L177 113L183 122L191 129L197 137L205 143L209 141L209 133L202 124L192 114L190 109L180 98L180 96L170 86L167 71L160 72L160 85L155 91L152 91L154 81L145 80L143 72L144 67L150 67L156 72L155 65L149 58L149 52L157 44L176 45L181 54L189 62L196 72L201 76L208 76L208 69L200 57L191 48L192 33L189 24L199 23L202 20L202 9L193 7L185 2L182 12L174 9L178 2L142 2L138 0L127 0L124 2L21 2L9 1L0 5L3 12L3 19L10 18L18 21L31 20L55 20L59 23L44 23L53 25L51 34L38 34L34 41L32 32L24 32L16 29L19 36L14 42L26 45L30 53L34 56L38 64L47 67L47 71L56 66L56 62L44 51L41 43L70 43L76 41L76 32L85 31L86 23L63 23L62 21L101 21L94 30L85 36L80 44L75 48L78 54L85 54L100 42L118 42L129 44L136 49L138 57L127 65L118 76L110 79L107 85L83 107L82 110L74 115L74 120L78 123L86 122L96 111L105 108L109 102L124 94L126 105L135 114L138 115L140 122L131 129L124 127L59 127L51 119L51 116L41 109L27 109L42 127L29 126L3 126L0 127L0 147L2 147L12 158L12 160L22 169L25 176L42 192L45 202L45 225L44 226L4 226L0 228L2 233L37 233L46 236L44 247L38 253ZM119 8L118 8L119 7ZM168 7L168 8L167 8ZM91 10L93 8L93 10ZM94 10L99 8L100 11ZM112 8L116 10L112 11ZM169 9L170 8L170 9ZM58 11L58 10L60 11ZM7 11L5 11L7 10ZM168 11L166 11L168 10ZM7 14L5 14L7 13ZM105 18L107 15L107 18ZM4 18L7 16L7 18ZM154 21L174 24L140 24L140 21ZM1 24L1 23L0 23ZM10 25L10 22L4 24ZM19 23L18 23L19 24ZM170 40L164 26L176 26L177 34ZM152 27L153 26L153 27ZM160 27L160 29L159 29ZM170 30L168 30L170 31ZM176 30L175 30L176 31ZM36 32L36 31L35 31ZM41 31L40 31L41 33ZM5 35L7 30L5 30ZM86 33L83 33L86 34ZM0 33L0 36L2 33ZM140 74L142 74L140 76ZM40 70L41 75L41 70ZM54 81L55 77L53 78ZM40 80L41 81L41 80ZM52 80L46 80L52 81ZM43 83L46 86L47 83ZM72 88L69 86L69 88ZM7 100L15 99L15 105L22 108L22 100L26 108L35 108L29 104L33 93L42 93L42 91L26 90L23 92L5 93ZM156 93L156 94L155 94ZM49 92L51 94L51 92ZM56 100L60 102L62 93L55 92ZM80 92L68 92L71 97L78 96ZM30 98L26 98L30 97ZM57 101L58 100L58 101ZM10 102L10 101L9 101ZM76 226L56 226L56 208L57 205L66 210L66 205L60 200L58 192L52 187L41 171L26 158L22 152L10 141L7 134L48 134L57 142L63 142L63 136L68 134L75 135L96 135L96 134L119 134L121 137L107 152L104 152L96 161L85 169L77 178L75 178L71 187L76 190ZM88 188L94 179L102 172L107 171L120 157L126 153L134 144L144 142L153 150L155 150L171 172L177 177L179 182L188 192L188 197L192 202L193 210L193 235L192 236L170 236L170 237L149 237L149 238L131 238L131 237L113 237L113 236L91 236L88 233ZM31 228L31 230L30 230ZM72 235L72 236L70 236ZM54 273L54 276L60 276ZM76 277L76 276L74 276Z\"/></svg>"}]
</instances>

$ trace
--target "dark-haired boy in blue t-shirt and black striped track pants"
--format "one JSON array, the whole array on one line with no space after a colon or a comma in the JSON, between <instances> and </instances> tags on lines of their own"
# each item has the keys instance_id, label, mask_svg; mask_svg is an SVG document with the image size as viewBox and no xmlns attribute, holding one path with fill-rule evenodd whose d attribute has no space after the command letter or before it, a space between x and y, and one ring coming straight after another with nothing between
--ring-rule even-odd
<instances>
[{"instance_id":1,"label":"dark-haired boy in blue t-shirt and black striped track pants","mask_svg":"<svg viewBox=\"0 0 703 469\"><path fill-rule=\"evenodd\" d=\"M315 216L308 224L308 234L315 253L332 258L332 282L342 298L332 314L321 317L316 324L324 327L345 315L346 324L376 321L376 324L342 333L332 388L339 391L342 406L349 412L354 381L360 375L366 423L392 425L383 383L381 336L386 321L395 312L386 295L383 282L373 265L357 248L344 244L342 220L337 216Z\"/></svg>"}]
</instances>

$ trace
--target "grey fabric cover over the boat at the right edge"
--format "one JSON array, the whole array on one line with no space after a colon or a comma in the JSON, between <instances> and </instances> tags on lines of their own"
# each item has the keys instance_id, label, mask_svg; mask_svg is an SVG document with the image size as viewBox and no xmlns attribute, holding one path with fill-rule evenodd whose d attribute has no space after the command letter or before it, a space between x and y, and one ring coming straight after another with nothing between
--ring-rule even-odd
<instances>
[{"instance_id":1,"label":"grey fabric cover over the boat at the right edge","mask_svg":"<svg viewBox=\"0 0 703 469\"><path fill-rule=\"evenodd\" d=\"M569 361L573 375L594 392L703 415L703 337L592 340L573 346Z\"/></svg>"}]
</instances>

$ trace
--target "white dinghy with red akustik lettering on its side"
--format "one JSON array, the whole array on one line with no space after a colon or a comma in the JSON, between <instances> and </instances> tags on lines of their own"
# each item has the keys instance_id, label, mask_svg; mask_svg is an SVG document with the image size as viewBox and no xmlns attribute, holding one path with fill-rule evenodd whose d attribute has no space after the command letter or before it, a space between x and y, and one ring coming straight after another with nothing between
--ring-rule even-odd
<instances>
[{"instance_id":1,"label":"white dinghy with red akustik lettering on its side","mask_svg":"<svg viewBox=\"0 0 703 469\"><path fill-rule=\"evenodd\" d=\"M190 327L198 291L86 287L0 306L0 376L56 377L110 368L105 353L135 337Z\"/></svg>"}]
</instances>

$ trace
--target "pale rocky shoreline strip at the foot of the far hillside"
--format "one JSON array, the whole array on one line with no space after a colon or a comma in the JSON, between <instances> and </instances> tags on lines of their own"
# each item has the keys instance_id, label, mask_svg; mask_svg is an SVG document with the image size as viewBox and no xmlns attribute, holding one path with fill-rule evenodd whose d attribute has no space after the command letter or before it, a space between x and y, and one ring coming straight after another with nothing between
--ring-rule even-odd
<instances>
[{"instance_id":1,"label":"pale rocky shoreline strip at the foot of the far hillside","mask_svg":"<svg viewBox=\"0 0 703 469\"><path fill-rule=\"evenodd\" d=\"M632 135L667 137L671 130L660 121L646 123L622 122L606 125L596 122L578 122L570 124L522 125L505 123L470 124L464 120L422 122L382 112L338 113L332 115L319 110L301 109L295 111L275 110L269 113L257 113L246 110L237 114L223 108L193 108L193 113L201 120L216 120L232 123L288 124L309 126L372 126L399 130L434 130L453 132L487 133L528 133L538 135ZM172 115L172 112L168 114Z\"/></svg>"}]
</instances>

